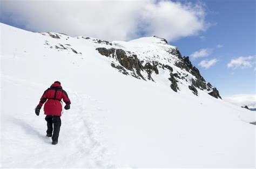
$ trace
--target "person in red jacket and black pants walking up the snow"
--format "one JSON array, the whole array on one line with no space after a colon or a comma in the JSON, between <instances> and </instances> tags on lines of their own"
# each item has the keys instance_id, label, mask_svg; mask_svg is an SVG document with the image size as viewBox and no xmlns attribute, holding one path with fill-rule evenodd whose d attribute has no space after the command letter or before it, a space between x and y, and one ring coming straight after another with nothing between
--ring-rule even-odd
<instances>
[{"instance_id":1,"label":"person in red jacket and black pants walking up the snow","mask_svg":"<svg viewBox=\"0 0 256 169\"><path fill-rule=\"evenodd\" d=\"M54 82L50 88L44 91L39 104L36 106L35 112L39 116L41 107L44 105L45 120L47 121L46 136L52 137L52 144L58 144L59 130L62 124L60 116L62 116L62 99L66 104L64 109L70 109L70 99L68 94L62 89L59 81ZM52 127L53 125L53 127ZM52 134L53 132L53 134Z\"/></svg>"}]
</instances>

